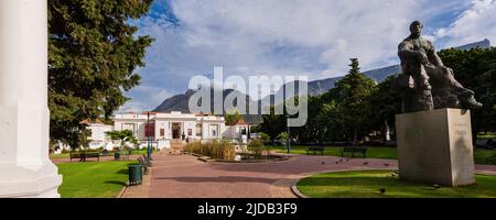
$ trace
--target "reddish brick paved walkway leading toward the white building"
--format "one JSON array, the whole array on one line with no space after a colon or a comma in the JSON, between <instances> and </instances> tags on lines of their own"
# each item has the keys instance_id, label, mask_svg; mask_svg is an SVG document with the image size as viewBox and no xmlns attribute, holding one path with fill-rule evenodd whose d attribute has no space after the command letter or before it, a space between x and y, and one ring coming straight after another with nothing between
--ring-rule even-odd
<instances>
[{"instance_id":1,"label":"reddish brick paved walkway leading toward the white building","mask_svg":"<svg viewBox=\"0 0 496 220\"><path fill-rule=\"evenodd\" d=\"M496 166L476 166L496 175ZM322 172L397 169L397 161L292 155L270 163L204 163L191 155L154 156L150 184L129 188L123 197L151 198L292 198L290 186Z\"/></svg>"}]
</instances>

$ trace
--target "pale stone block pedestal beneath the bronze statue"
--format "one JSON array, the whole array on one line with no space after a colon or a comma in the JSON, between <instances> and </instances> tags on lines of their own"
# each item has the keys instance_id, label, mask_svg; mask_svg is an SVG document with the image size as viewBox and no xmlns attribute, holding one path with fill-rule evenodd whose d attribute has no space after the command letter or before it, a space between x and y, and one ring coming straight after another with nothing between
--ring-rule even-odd
<instances>
[{"instance_id":1,"label":"pale stone block pedestal beneath the bronze statue","mask_svg":"<svg viewBox=\"0 0 496 220\"><path fill-rule=\"evenodd\" d=\"M454 187L475 183L470 110L398 114L396 124L401 179Z\"/></svg>"}]
</instances>

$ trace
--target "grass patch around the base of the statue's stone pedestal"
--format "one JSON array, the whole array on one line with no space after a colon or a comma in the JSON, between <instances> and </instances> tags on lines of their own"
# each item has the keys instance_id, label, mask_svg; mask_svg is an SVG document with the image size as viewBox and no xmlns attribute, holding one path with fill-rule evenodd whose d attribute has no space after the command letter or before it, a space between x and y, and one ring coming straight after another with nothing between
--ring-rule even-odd
<instances>
[{"instance_id":1,"label":"grass patch around the base of the statue's stone pedestal","mask_svg":"<svg viewBox=\"0 0 496 220\"><path fill-rule=\"evenodd\" d=\"M311 198L496 198L496 176L476 175L476 184L442 187L406 183L393 172L342 172L320 174L298 183L298 189ZM385 194L379 189L384 188Z\"/></svg>"}]
</instances>

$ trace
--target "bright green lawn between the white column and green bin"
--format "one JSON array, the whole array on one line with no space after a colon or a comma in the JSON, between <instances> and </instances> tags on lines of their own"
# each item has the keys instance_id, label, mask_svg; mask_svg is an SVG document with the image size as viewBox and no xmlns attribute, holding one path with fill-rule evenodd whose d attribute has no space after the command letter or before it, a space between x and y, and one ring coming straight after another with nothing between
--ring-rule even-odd
<instances>
[{"instance_id":1,"label":"bright green lawn between the white column and green bin","mask_svg":"<svg viewBox=\"0 0 496 220\"><path fill-rule=\"evenodd\" d=\"M128 180L134 162L87 162L56 164L63 175L62 198L115 198Z\"/></svg>"}]
</instances>

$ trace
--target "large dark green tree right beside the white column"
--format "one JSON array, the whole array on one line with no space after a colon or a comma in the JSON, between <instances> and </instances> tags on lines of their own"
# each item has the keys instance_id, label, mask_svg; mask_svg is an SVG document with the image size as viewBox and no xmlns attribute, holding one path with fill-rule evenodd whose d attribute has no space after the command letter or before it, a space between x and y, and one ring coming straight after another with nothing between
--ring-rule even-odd
<instances>
[{"instance_id":1,"label":"large dark green tree right beside the white column","mask_svg":"<svg viewBox=\"0 0 496 220\"><path fill-rule=\"evenodd\" d=\"M129 23L145 14L152 0L48 0L50 135L79 146L85 119L105 121L139 85L149 36Z\"/></svg>"}]
</instances>

